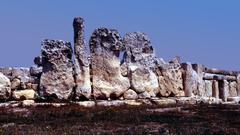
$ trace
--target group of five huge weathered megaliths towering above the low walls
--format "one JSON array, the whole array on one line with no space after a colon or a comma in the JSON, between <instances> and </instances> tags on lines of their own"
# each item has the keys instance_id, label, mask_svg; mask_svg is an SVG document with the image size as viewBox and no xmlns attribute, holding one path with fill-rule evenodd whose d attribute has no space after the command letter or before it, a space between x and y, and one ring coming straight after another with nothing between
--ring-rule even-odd
<instances>
[{"instance_id":1,"label":"group of five huge weathered megaliths towering above the low walls","mask_svg":"<svg viewBox=\"0 0 240 135\"><path fill-rule=\"evenodd\" d=\"M128 33L122 39L117 30L96 29L90 37L89 56L84 20L75 18L73 28L74 52L69 42L42 41L40 96L61 100L184 96L179 61L156 58L146 34Z\"/></svg>"}]
</instances>

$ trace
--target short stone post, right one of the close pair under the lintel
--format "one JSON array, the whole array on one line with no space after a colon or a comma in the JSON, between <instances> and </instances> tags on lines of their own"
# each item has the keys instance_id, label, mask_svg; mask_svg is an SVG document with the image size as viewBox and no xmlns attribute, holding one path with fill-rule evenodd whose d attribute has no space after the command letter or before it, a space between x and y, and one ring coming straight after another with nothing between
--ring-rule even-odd
<instances>
[{"instance_id":1,"label":"short stone post, right one of the close pair under the lintel","mask_svg":"<svg viewBox=\"0 0 240 135\"><path fill-rule=\"evenodd\" d=\"M229 95L229 83L227 80L219 81L219 97L227 102L227 98Z\"/></svg>"}]
</instances>

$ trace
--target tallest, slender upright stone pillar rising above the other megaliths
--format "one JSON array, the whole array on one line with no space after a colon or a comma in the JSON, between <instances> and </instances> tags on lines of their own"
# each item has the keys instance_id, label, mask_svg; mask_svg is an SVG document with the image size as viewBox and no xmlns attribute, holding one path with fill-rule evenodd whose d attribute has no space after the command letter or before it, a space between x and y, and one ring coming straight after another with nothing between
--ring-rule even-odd
<instances>
[{"instance_id":1,"label":"tallest, slender upright stone pillar rising above the other megaliths","mask_svg":"<svg viewBox=\"0 0 240 135\"><path fill-rule=\"evenodd\" d=\"M84 20L80 17L74 18L74 54L75 54L75 82L76 98L82 96L91 97L91 81L89 71L89 56L84 42Z\"/></svg>"}]
</instances>

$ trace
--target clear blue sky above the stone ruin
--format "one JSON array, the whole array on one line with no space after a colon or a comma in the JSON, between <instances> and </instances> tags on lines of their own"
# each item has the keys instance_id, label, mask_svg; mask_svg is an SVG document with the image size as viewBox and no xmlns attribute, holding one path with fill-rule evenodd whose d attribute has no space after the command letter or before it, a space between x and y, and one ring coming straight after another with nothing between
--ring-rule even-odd
<instances>
[{"instance_id":1,"label":"clear blue sky above the stone ruin","mask_svg":"<svg viewBox=\"0 0 240 135\"><path fill-rule=\"evenodd\" d=\"M240 70L240 0L1 0L0 66L33 65L44 38L73 41L72 21L142 31L158 57Z\"/></svg>"}]
</instances>

